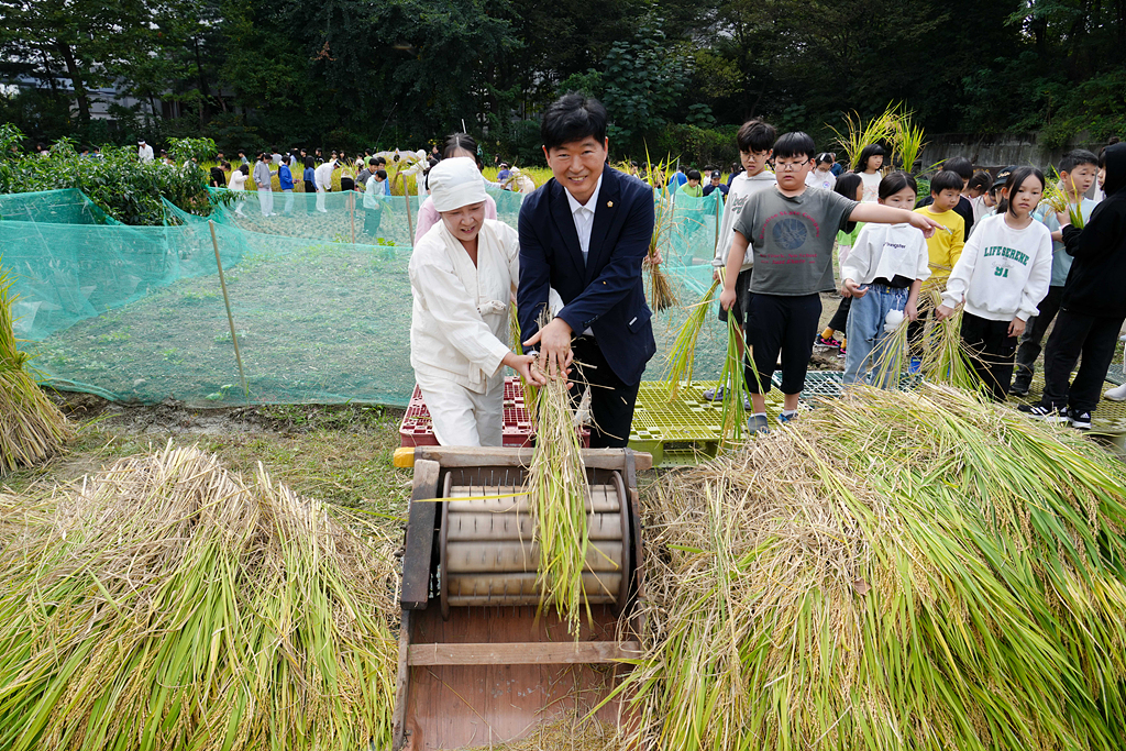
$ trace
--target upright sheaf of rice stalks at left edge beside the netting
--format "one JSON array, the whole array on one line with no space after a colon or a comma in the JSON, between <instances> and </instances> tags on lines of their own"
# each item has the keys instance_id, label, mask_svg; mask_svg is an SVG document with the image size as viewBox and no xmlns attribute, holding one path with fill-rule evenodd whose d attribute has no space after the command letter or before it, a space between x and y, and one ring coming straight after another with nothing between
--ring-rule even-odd
<instances>
[{"instance_id":1,"label":"upright sheaf of rice stalks at left edge beside the netting","mask_svg":"<svg viewBox=\"0 0 1126 751\"><path fill-rule=\"evenodd\" d=\"M42 462L71 436L66 418L27 373L29 356L16 346L11 284L0 274L0 474Z\"/></svg>"}]
</instances>

